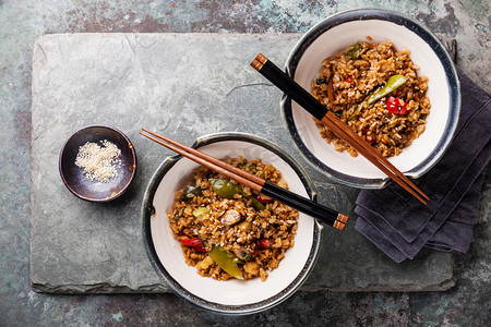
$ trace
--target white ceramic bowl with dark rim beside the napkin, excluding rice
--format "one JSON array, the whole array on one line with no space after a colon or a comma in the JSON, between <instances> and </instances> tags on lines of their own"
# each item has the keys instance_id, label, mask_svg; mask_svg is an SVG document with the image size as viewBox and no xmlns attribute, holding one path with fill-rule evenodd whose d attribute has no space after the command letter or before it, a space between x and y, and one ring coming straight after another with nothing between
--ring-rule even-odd
<instances>
[{"instance_id":1,"label":"white ceramic bowl with dark rim beside the napkin, excluding rice","mask_svg":"<svg viewBox=\"0 0 491 327\"><path fill-rule=\"evenodd\" d=\"M457 125L460 108L459 82L444 46L419 23L392 11L361 9L330 16L313 26L296 45L287 62L287 73L310 90L324 59L366 41L392 41L396 50L410 50L420 66L418 75L428 76L427 96L431 112L427 129L412 145L390 161L410 178L426 173L442 157ZM334 180L357 187L378 189L388 179L362 156L334 150L320 135L312 117L288 96L282 100L284 119L295 144L314 167Z\"/></svg>"}]
</instances>

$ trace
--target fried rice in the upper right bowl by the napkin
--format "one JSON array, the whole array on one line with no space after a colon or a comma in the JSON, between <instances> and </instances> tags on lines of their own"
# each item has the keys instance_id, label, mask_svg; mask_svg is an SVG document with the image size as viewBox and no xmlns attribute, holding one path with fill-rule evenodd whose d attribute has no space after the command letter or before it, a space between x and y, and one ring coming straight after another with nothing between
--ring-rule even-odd
<instances>
[{"instance_id":1,"label":"fried rice in the upper right bowl by the napkin","mask_svg":"<svg viewBox=\"0 0 491 327\"><path fill-rule=\"evenodd\" d=\"M361 41L322 62L318 78L311 82L311 93L384 157L397 156L424 132L430 113L426 96L428 77L418 76L418 69L409 58L409 50L396 51L392 43ZM367 98L394 75L403 75L407 82L367 106ZM394 100L390 96L407 112L390 112L387 106ZM357 113L359 106L361 110ZM358 155L321 122L315 122L321 136L336 150Z\"/></svg>"}]
</instances>

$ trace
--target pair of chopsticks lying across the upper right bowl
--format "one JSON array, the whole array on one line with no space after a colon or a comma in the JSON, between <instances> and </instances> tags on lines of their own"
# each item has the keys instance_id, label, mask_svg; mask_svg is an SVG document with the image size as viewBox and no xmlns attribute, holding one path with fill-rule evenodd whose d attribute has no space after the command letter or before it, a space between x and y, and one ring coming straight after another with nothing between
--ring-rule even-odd
<instances>
[{"instance_id":1,"label":"pair of chopsticks lying across the upper right bowl","mask_svg":"<svg viewBox=\"0 0 491 327\"><path fill-rule=\"evenodd\" d=\"M266 57L262 53L258 55L251 62L251 65L285 94L289 95L298 105L303 107L303 109L326 125L333 133L346 141L359 154L386 173L404 190L412 194L423 204L427 204L430 198L418 186Z\"/></svg>"}]
</instances>

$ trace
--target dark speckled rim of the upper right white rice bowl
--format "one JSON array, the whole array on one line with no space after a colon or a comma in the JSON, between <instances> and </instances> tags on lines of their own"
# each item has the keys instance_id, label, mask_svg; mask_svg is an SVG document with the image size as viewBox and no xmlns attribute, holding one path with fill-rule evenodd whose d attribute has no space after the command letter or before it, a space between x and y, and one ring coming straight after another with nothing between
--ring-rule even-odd
<instances>
[{"instance_id":1,"label":"dark speckled rim of the upper right white rice bowl","mask_svg":"<svg viewBox=\"0 0 491 327\"><path fill-rule=\"evenodd\" d=\"M355 9L344 11L327 19L321 21L312 28L310 28L296 44L292 51L290 52L286 64L286 73L294 78L297 65L301 59L301 56L307 50L307 48L325 31L331 29L337 25L352 22L352 21L363 21L363 20L382 20L391 23L395 23L407 27L419 37L421 37L435 52L439 58L443 70L446 75L447 88L450 94L450 116L445 126L445 134L442 135L441 141L436 145L434 152L427 157L421 164L414 167L412 169L405 171L405 174L409 178L416 179L428 172L440 158L444 155L448 145L451 144L455 130L457 128L458 116L460 112L460 83L458 80L457 71L455 69L454 62L452 61L448 52L446 51L443 44L424 26L414 21L412 19L405 16L398 12L383 10L383 9ZM323 161L318 159L308 146L303 143L300 137L299 131L297 130L294 121L291 98L284 95L280 100L280 108L283 113L283 121L285 128L288 130L290 136L294 140L295 145L311 166L326 174L332 180L358 189L382 189L390 183L388 178L359 178L349 174L342 173L337 170L330 168Z\"/></svg>"}]
</instances>

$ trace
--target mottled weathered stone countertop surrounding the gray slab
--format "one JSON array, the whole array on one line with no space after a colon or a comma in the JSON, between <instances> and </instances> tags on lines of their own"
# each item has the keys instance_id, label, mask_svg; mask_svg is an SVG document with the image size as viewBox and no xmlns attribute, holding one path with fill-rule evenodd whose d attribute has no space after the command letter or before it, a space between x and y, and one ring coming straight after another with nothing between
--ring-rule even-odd
<instances>
[{"instance_id":1,"label":"mottled weathered stone countertop surrounding the gray slab","mask_svg":"<svg viewBox=\"0 0 491 327\"><path fill-rule=\"evenodd\" d=\"M490 92L489 3L381 1L378 5L407 13L433 32L455 38L458 65ZM303 33L324 16L354 7L373 5L370 1L0 1L0 133L4 140L0 325L487 325L491 312L489 170L475 239L467 254L454 256L457 281L445 292L345 293L304 288L273 310L236 318L203 312L173 294L48 295L29 288L31 60L36 39L85 32ZM321 192L339 187L316 186Z\"/></svg>"}]
</instances>

